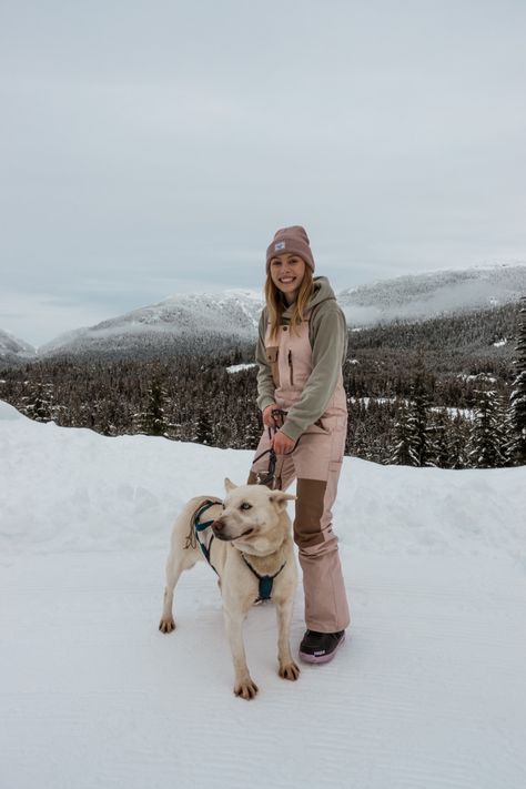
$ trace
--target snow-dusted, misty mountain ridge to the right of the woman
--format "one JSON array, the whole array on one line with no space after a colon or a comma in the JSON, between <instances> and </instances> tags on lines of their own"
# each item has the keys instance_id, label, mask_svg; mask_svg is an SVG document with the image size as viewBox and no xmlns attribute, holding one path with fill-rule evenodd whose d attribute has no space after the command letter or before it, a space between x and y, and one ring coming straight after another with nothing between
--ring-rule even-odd
<instances>
[{"instance_id":1,"label":"snow-dusted, misty mountain ridge to the right of the woman","mask_svg":"<svg viewBox=\"0 0 526 789\"><path fill-rule=\"evenodd\" d=\"M502 306L526 294L526 265L496 265L397 276L338 293L350 325L418 321Z\"/></svg>"}]
</instances>

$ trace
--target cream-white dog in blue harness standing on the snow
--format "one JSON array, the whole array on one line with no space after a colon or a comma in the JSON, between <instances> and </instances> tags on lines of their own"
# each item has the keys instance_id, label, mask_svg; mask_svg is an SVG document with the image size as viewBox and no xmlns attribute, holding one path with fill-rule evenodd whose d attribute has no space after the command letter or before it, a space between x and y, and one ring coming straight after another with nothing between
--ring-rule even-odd
<instances>
[{"instance_id":1,"label":"cream-white dog in blue harness standing on the snow","mask_svg":"<svg viewBox=\"0 0 526 789\"><path fill-rule=\"evenodd\" d=\"M192 498L176 519L166 562L166 587L159 629L171 633L173 590L184 569L201 558L219 576L223 611L235 671L234 692L254 698L257 686L246 665L243 620L254 603L272 599L277 614L279 674L297 679L289 633L297 570L286 502L294 499L264 485L236 487L224 481L226 498Z\"/></svg>"}]
</instances>

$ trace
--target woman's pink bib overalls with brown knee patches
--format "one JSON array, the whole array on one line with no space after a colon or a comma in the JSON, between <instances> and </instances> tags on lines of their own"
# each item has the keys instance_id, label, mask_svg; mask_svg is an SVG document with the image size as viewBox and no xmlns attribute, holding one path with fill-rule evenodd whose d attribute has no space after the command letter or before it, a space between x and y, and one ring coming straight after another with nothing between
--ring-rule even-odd
<instances>
[{"instance_id":1,"label":"woman's pink bib overalls with brown knee patches","mask_svg":"<svg viewBox=\"0 0 526 789\"><path fill-rule=\"evenodd\" d=\"M277 341L272 343L269 326L265 344L276 387L275 402L280 408L290 411L300 399L312 372L308 317L294 332L289 326L281 326ZM304 431L292 454L277 456L275 469L276 487L283 490L294 478L297 479L294 540L303 570L305 623L310 630L318 633L336 633L350 624L331 513L342 468L346 425L346 396L340 373L325 412L316 424ZM269 431L265 428L255 457L269 447ZM267 467L266 454L253 464L249 483L255 483L257 473Z\"/></svg>"}]
</instances>

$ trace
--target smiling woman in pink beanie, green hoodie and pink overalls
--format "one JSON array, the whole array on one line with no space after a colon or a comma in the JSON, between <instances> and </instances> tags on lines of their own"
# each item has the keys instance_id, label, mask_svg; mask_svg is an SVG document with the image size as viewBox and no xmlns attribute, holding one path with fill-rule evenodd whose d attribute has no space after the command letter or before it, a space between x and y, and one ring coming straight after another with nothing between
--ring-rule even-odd
<instances>
[{"instance_id":1,"label":"smiling woman in pink beanie, green hoodie and pink overalls","mask_svg":"<svg viewBox=\"0 0 526 789\"><path fill-rule=\"evenodd\" d=\"M347 425L342 380L347 327L328 281L313 273L305 230L279 230L266 251L266 307L256 347L257 405L265 431L249 483L266 472L269 454L263 453L271 446L277 455L276 486L285 490L297 479L294 540L307 627L300 657L327 662L350 623L331 514Z\"/></svg>"}]
</instances>

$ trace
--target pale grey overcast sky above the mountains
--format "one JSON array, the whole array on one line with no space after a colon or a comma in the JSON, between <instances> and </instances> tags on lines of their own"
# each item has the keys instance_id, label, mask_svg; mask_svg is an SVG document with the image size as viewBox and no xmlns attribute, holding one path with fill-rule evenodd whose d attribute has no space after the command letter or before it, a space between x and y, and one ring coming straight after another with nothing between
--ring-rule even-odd
<instances>
[{"instance_id":1,"label":"pale grey overcast sky above the mountains","mask_svg":"<svg viewBox=\"0 0 526 789\"><path fill-rule=\"evenodd\" d=\"M526 2L0 0L0 327L526 261Z\"/></svg>"}]
</instances>

